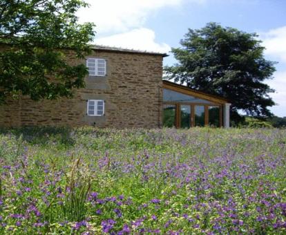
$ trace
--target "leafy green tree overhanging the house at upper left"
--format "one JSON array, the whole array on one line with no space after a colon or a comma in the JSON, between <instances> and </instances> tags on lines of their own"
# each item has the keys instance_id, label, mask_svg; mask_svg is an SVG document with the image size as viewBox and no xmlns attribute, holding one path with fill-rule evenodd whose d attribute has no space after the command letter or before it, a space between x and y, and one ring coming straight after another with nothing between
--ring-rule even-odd
<instances>
[{"instance_id":1,"label":"leafy green tree overhanging the house at upper left","mask_svg":"<svg viewBox=\"0 0 286 235\"><path fill-rule=\"evenodd\" d=\"M84 86L84 58L95 32L79 24L82 0L0 0L0 103L29 95L32 100L70 97ZM73 55L66 55L73 51Z\"/></svg>"}]
</instances>

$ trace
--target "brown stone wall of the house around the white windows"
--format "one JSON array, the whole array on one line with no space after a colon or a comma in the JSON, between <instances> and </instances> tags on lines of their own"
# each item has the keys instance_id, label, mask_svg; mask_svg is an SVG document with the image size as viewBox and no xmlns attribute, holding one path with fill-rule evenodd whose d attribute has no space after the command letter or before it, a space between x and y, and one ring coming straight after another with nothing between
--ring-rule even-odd
<instances>
[{"instance_id":1,"label":"brown stone wall of the house around the white windows","mask_svg":"<svg viewBox=\"0 0 286 235\"><path fill-rule=\"evenodd\" d=\"M0 126L162 126L162 56L94 50L106 59L106 77L86 77L86 88L71 99L34 102L28 97L0 106ZM77 61L73 53L69 62ZM86 115L86 100L105 100L102 117Z\"/></svg>"}]
</instances>

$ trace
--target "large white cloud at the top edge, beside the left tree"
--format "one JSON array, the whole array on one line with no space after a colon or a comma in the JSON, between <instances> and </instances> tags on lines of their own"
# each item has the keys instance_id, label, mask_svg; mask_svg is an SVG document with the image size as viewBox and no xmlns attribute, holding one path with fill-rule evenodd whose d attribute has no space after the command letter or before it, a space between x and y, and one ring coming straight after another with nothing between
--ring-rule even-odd
<instances>
[{"instance_id":1,"label":"large white cloud at the top edge, beside the left tree","mask_svg":"<svg viewBox=\"0 0 286 235\"><path fill-rule=\"evenodd\" d=\"M203 3L206 0L86 0L90 8L79 10L79 21L93 22L99 34L124 32L142 27L155 10L164 7L180 6L183 1Z\"/></svg>"}]
</instances>

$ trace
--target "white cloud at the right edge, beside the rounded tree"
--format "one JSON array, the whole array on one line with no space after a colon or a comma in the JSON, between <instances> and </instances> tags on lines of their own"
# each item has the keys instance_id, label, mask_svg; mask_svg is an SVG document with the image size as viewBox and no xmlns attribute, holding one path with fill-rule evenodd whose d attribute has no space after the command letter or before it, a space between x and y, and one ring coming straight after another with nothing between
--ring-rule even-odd
<instances>
[{"instance_id":1,"label":"white cloud at the right edge, beside the rounded tree","mask_svg":"<svg viewBox=\"0 0 286 235\"><path fill-rule=\"evenodd\" d=\"M286 26L260 34L266 55L286 62Z\"/></svg>"}]
</instances>

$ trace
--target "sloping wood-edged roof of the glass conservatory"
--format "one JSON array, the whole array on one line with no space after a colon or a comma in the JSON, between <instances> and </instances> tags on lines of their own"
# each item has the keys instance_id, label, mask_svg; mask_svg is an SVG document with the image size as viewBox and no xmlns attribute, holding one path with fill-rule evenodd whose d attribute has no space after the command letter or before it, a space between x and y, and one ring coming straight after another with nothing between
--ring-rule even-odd
<instances>
[{"instance_id":1,"label":"sloping wood-edged roof of the glass conservatory","mask_svg":"<svg viewBox=\"0 0 286 235\"><path fill-rule=\"evenodd\" d=\"M194 90L194 89L189 88L187 86L183 86L183 85L176 84L174 82L169 82L166 80L163 80L163 88L171 89L173 91L178 91L178 92L184 93L186 95L193 95L193 96L199 97L201 99L209 100L211 102L215 102L218 104L229 103L229 100L225 99L224 97L220 97L218 95L211 95L208 93L204 93L202 91L197 91L197 90Z\"/></svg>"}]
</instances>

